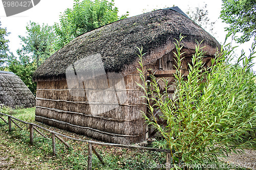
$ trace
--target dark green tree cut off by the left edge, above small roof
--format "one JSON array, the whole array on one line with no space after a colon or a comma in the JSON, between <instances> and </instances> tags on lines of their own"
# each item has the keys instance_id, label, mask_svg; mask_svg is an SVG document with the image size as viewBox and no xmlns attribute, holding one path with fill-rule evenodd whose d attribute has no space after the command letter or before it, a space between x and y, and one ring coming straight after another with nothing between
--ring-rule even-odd
<instances>
[{"instance_id":1,"label":"dark green tree cut off by the left edge, above small roof","mask_svg":"<svg viewBox=\"0 0 256 170\"><path fill-rule=\"evenodd\" d=\"M4 59L8 57L9 52L9 46L8 42L9 40L6 39L6 36L8 36L10 33L7 32L6 28L1 28L1 21L0 21L0 66L4 63Z\"/></svg>"}]
</instances>

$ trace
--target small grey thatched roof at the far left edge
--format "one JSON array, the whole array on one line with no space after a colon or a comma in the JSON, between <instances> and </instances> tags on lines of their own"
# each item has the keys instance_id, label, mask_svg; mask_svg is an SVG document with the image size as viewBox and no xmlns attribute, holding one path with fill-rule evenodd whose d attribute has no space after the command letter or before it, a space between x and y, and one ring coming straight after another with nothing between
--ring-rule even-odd
<instances>
[{"instance_id":1,"label":"small grey thatched roof at the far left edge","mask_svg":"<svg viewBox=\"0 0 256 170\"><path fill-rule=\"evenodd\" d=\"M11 108L35 106L35 98L29 88L13 72L0 71L0 104Z\"/></svg>"}]
</instances>

